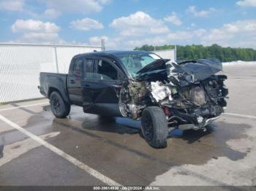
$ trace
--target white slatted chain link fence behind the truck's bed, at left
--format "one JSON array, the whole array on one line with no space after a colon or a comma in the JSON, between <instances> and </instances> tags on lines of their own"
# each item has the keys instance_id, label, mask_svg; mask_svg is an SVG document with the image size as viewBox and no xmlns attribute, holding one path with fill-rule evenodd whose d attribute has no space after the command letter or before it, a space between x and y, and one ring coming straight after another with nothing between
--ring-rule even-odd
<instances>
[{"instance_id":1,"label":"white slatted chain link fence behind the truck's bed, at left","mask_svg":"<svg viewBox=\"0 0 256 191\"><path fill-rule=\"evenodd\" d=\"M104 46L0 44L0 103L41 98L39 72L67 73L74 55Z\"/></svg>"}]
</instances>

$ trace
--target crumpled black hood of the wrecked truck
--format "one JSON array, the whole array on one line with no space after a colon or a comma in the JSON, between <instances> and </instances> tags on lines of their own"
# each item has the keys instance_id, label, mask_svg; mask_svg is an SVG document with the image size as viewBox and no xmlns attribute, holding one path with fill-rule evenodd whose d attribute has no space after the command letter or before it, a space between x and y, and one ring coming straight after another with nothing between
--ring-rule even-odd
<instances>
[{"instance_id":1,"label":"crumpled black hood of the wrecked truck","mask_svg":"<svg viewBox=\"0 0 256 191\"><path fill-rule=\"evenodd\" d=\"M217 59L198 59L191 61L178 61L170 63L170 60L159 59L145 66L137 72L136 79L148 80L167 78L176 85L189 85L200 82L219 71L222 71L222 63Z\"/></svg>"}]
</instances>

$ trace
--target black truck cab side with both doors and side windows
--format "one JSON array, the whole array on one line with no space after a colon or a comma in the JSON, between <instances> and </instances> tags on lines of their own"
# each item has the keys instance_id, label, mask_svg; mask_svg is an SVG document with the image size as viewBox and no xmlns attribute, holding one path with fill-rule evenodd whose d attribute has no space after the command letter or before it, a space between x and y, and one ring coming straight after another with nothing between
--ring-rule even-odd
<instances>
[{"instance_id":1,"label":"black truck cab side with both doors and side windows","mask_svg":"<svg viewBox=\"0 0 256 191\"><path fill-rule=\"evenodd\" d=\"M121 116L118 94L127 75L120 63L108 55L78 55L69 66L67 90L72 104L91 114Z\"/></svg>"}]
</instances>

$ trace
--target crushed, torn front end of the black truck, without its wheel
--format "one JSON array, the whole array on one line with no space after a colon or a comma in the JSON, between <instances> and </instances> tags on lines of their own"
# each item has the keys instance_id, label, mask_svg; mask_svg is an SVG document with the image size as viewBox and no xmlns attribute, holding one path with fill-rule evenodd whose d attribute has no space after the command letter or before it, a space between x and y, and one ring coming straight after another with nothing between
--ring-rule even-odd
<instances>
[{"instance_id":1,"label":"crushed, torn front end of the black truck, without its wheel","mask_svg":"<svg viewBox=\"0 0 256 191\"><path fill-rule=\"evenodd\" d=\"M227 106L227 77L216 75L219 71L222 63L217 59L154 61L121 89L121 114L138 120L146 106L160 106L170 127L203 128Z\"/></svg>"}]
</instances>

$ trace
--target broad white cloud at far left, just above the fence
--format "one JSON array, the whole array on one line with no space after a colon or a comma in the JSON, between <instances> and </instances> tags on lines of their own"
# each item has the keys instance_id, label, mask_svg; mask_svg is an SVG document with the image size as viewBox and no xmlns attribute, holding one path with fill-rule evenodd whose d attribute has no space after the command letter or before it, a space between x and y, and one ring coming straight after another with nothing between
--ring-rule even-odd
<instances>
[{"instance_id":1,"label":"broad white cloud at far left, just above the fence","mask_svg":"<svg viewBox=\"0 0 256 191\"><path fill-rule=\"evenodd\" d=\"M59 26L43 23L41 20L16 20L12 25L13 33L23 34L19 42L53 42L59 40Z\"/></svg>"}]
</instances>

